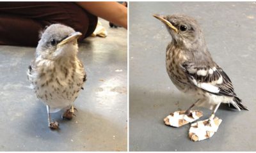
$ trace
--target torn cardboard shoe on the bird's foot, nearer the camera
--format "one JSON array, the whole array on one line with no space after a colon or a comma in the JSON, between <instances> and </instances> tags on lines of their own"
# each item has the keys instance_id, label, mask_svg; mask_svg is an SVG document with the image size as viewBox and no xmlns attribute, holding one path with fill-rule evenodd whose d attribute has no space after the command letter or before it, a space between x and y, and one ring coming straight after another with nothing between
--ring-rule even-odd
<instances>
[{"instance_id":1,"label":"torn cardboard shoe on the bird's foot, nearer the camera","mask_svg":"<svg viewBox=\"0 0 256 153\"><path fill-rule=\"evenodd\" d=\"M189 138L194 142L211 138L218 130L221 121L218 117L211 116L209 119L191 124Z\"/></svg>"}]
</instances>

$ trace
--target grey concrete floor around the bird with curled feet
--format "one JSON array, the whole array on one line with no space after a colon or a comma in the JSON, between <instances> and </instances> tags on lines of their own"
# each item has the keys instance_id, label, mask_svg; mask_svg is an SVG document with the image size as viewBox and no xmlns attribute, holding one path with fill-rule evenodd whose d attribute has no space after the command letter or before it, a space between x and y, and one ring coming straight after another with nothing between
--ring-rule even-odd
<instances>
[{"instance_id":1,"label":"grey concrete floor around the bird with curled feet","mask_svg":"<svg viewBox=\"0 0 256 153\"><path fill-rule=\"evenodd\" d=\"M28 88L26 71L35 48L0 46L0 150L127 150L127 31L100 21L108 37L79 44L88 80L73 120L52 114L58 131L47 127L46 108Z\"/></svg>"}]
</instances>

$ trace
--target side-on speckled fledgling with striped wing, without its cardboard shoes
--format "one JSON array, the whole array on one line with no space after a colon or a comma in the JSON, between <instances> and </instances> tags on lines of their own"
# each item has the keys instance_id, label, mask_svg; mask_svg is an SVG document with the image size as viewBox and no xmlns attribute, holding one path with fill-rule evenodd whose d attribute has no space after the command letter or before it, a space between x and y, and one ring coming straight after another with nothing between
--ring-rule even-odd
<instances>
[{"instance_id":1,"label":"side-on speckled fledgling with striped wing, without its cardboard shoes","mask_svg":"<svg viewBox=\"0 0 256 153\"><path fill-rule=\"evenodd\" d=\"M237 110L248 110L236 96L230 78L212 60L204 34L198 22L186 15L154 15L161 20L172 35L166 48L166 70L173 84L182 92L196 97L197 101L186 110L189 115L193 106L205 106L213 110L221 103L232 104Z\"/></svg>"}]
</instances>

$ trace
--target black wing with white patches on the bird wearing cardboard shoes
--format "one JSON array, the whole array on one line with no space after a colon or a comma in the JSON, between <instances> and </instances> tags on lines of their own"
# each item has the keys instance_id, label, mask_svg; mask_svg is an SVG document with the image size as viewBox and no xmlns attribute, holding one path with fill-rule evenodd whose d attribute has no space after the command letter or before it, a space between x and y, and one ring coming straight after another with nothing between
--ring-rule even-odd
<instances>
[{"instance_id":1,"label":"black wing with white patches on the bird wearing cardboard shoes","mask_svg":"<svg viewBox=\"0 0 256 153\"><path fill-rule=\"evenodd\" d=\"M216 95L236 96L230 78L217 64L211 67L184 62L181 67L196 87Z\"/></svg>"}]
</instances>

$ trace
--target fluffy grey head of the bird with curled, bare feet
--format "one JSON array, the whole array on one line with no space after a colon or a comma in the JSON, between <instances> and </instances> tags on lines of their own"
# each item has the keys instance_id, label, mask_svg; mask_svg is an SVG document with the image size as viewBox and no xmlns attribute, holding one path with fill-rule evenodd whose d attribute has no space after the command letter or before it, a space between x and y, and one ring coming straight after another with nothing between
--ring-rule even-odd
<instances>
[{"instance_id":1,"label":"fluffy grey head of the bird with curled, bare feet","mask_svg":"<svg viewBox=\"0 0 256 153\"><path fill-rule=\"evenodd\" d=\"M36 56L51 60L74 57L78 52L77 38L81 35L66 25L52 24L42 33Z\"/></svg>"}]
</instances>

